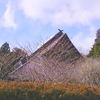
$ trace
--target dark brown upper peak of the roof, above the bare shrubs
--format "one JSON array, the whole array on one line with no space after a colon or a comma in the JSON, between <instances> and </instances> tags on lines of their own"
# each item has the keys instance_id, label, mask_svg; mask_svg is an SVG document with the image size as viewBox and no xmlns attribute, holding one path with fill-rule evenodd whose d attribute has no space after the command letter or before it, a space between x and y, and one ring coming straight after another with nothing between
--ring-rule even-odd
<instances>
[{"instance_id":1,"label":"dark brown upper peak of the roof, above the bare shrubs","mask_svg":"<svg viewBox=\"0 0 100 100\"><path fill-rule=\"evenodd\" d=\"M82 57L67 34L62 33L62 31L35 51L32 56L34 55L44 55L47 58L56 59L65 63L74 63Z\"/></svg>"}]
</instances>

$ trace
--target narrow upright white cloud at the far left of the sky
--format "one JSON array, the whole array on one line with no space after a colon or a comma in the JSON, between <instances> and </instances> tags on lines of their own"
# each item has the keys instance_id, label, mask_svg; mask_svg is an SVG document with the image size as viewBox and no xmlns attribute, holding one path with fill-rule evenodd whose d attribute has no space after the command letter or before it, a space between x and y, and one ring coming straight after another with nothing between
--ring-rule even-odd
<instances>
[{"instance_id":1,"label":"narrow upright white cloud at the far left of the sky","mask_svg":"<svg viewBox=\"0 0 100 100\"><path fill-rule=\"evenodd\" d=\"M14 22L14 10L11 5L11 2L9 1L6 5L7 9L4 13L4 15L0 19L0 27L13 27L14 29L17 28L17 24Z\"/></svg>"}]
</instances>

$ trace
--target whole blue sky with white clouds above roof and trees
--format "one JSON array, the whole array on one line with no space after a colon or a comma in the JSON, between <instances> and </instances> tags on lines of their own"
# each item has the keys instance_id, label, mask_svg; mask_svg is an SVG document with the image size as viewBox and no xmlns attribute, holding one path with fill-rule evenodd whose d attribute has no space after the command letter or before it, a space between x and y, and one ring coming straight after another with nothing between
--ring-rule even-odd
<instances>
[{"instance_id":1,"label":"whole blue sky with white clouds above roof and trees","mask_svg":"<svg viewBox=\"0 0 100 100\"><path fill-rule=\"evenodd\" d=\"M99 28L100 0L0 0L0 46L30 43L34 51L63 29L87 54Z\"/></svg>"}]
</instances>

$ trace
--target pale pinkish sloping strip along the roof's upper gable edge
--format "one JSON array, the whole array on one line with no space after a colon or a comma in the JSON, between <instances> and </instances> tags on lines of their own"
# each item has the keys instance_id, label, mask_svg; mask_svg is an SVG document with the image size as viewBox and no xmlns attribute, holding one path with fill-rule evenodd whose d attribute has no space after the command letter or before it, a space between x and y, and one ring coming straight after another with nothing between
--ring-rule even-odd
<instances>
[{"instance_id":1,"label":"pale pinkish sloping strip along the roof's upper gable edge","mask_svg":"<svg viewBox=\"0 0 100 100\"><path fill-rule=\"evenodd\" d=\"M58 39L56 39L53 43L51 43L46 49L44 49L40 55L43 55L44 53L46 53L48 50L50 50L51 48L53 48L65 35L66 33L62 34Z\"/></svg>"}]
</instances>

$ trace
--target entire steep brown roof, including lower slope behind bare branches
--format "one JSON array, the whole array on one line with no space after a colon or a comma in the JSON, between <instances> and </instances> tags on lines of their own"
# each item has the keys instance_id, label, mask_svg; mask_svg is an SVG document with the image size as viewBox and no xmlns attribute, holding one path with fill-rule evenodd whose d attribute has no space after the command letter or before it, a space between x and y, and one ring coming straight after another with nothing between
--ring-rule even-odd
<instances>
[{"instance_id":1,"label":"entire steep brown roof, including lower slope behind bare branches","mask_svg":"<svg viewBox=\"0 0 100 100\"><path fill-rule=\"evenodd\" d=\"M31 55L32 59L9 74L19 80L54 81L67 71L81 54L65 33L60 31ZM58 78L57 78L58 75ZM64 76L65 77L65 76Z\"/></svg>"}]
</instances>

